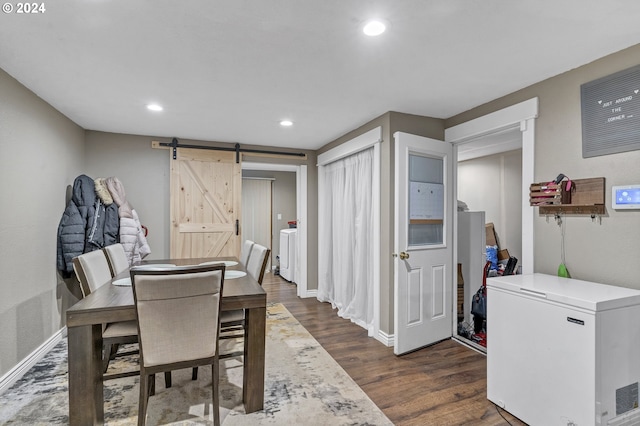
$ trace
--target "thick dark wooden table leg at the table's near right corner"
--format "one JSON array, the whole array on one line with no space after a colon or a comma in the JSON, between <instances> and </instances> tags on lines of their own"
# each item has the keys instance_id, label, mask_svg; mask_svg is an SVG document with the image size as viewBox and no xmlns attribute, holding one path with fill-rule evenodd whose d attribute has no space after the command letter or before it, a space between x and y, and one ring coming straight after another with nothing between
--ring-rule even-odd
<instances>
[{"instance_id":1,"label":"thick dark wooden table leg at the table's near right corner","mask_svg":"<svg viewBox=\"0 0 640 426\"><path fill-rule=\"evenodd\" d=\"M242 399L247 413L264 408L266 308L245 309Z\"/></svg>"}]
</instances>

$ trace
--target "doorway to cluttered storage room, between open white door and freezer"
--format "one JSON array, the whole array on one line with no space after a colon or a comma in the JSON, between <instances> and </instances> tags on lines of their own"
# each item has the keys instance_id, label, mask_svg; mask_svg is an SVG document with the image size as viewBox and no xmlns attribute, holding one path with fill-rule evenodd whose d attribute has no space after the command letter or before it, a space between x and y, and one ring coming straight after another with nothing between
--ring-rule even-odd
<instances>
[{"instance_id":1,"label":"doorway to cluttered storage room, between open white door and freezer","mask_svg":"<svg viewBox=\"0 0 640 426\"><path fill-rule=\"evenodd\" d=\"M519 147L520 132L510 133ZM481 350L486 322L472 314L471 301L483 287L487 259L493 259L488 276L515 273L513 262L522 259L521 181L520 148L458 161L457 332Z\"/></svg>"}]
</instances>

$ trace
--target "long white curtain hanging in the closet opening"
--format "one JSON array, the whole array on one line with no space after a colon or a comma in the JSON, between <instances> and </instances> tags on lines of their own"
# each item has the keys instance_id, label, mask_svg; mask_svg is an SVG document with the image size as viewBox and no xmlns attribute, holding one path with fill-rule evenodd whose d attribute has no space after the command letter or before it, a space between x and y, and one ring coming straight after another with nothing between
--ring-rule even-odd
<instances>
[{"instance_id":1,"label":"long white curtain hanging in the closet opening","mask_svg":"<svg viewBox=\"0 0 640 426\"><path fill-rule=\"evenodd\" d=\"M373 334L373 148L324 167L318 300Z\"/></svg>"}]
</instances>

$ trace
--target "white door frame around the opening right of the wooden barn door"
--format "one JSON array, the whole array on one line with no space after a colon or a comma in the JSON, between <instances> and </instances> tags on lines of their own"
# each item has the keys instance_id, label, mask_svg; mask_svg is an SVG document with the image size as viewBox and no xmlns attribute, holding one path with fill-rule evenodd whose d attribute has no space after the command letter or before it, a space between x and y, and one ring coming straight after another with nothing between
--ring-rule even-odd
<instances>
[{"instance_id":1,"label":"white door frame around the opening right of the wooden barn door","mask_svg":"<svg viewBox=\"0 0 640 426\"><path fill-rule=\"evenodd\" d=\"M298 297L314 297L316 290L309 291L307 288L307 165L243 161L242 170L294 172L296 174L296 218L298 220L298 232L296 232L296 251L298 254L298 256L296 256L298 263L296 269L296 290Z\"/></svg>"}]
</instances>

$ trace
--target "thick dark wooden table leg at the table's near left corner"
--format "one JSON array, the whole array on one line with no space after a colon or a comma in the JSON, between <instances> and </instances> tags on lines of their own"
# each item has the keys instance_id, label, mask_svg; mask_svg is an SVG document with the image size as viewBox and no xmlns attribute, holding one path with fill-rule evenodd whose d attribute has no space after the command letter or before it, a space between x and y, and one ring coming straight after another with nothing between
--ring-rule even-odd
<instances>
[{"instance_id":1,"label":"thick dark wooden table leg at the table's near left corner","mask_svg":"<svg viewBox=\"0 0 640 426\"><path fill-rule=\"evenodd\" d=\"M69 424L102 425L102 325L69 327Z\"/></svg>"}]
</instances>

